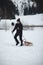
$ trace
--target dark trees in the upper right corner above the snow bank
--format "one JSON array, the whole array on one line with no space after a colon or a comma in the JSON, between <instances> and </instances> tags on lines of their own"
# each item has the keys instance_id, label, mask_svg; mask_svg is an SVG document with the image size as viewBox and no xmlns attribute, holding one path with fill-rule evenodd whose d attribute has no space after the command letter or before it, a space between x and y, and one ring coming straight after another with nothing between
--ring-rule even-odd
<instances>
[{"instance_id":1,"label":"dark trees in the upper right corner above the snow bank","mask_svg":"<svg viewBox=\"0 0 43 65\"><path fill-rule=\"evenodd\" d=\"M31 1L35 1L37 6L34 7L32 5L32 7L29 6L29 10L28 8L25 8L24 9L24 15L33 15L33 14L36 14L36 13L43 13L43 0L31 0ZM29 2L29 0L28 0Z\"/></svg>"}]
</instances>

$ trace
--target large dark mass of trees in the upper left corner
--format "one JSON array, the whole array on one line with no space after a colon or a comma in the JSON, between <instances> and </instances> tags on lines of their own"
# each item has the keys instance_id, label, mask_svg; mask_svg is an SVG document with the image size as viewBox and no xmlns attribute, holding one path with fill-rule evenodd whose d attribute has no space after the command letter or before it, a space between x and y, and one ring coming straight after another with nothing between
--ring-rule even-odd
<instances>
[{"instance_id":1,"label":"large dark mass of trees in the upper left corner","mask_svg":"<svg viewBox=\"0 0 43 65\"><path fill-rule=\"evenodd\" d=\"M16 7L11 0L0 0L0 18L15 19Z\"/></svg>"}]
</instances>

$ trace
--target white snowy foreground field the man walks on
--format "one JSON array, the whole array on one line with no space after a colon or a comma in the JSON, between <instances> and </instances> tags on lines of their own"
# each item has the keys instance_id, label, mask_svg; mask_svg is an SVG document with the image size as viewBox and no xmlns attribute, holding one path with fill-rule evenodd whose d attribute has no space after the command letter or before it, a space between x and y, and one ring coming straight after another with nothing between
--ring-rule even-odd
<instances>
[{"instance_id":1,"label":"white snowy foreground field the man walks on","mask_svg":"<svg viewBox=\"0 0 43 65\"><path fill-rule=\"evenodd\" d=\"M33 46L15 46L11 31L0 30L0 65L43 65L43 28L24 30L23 36Z\"/></svg>"}]
</instances>

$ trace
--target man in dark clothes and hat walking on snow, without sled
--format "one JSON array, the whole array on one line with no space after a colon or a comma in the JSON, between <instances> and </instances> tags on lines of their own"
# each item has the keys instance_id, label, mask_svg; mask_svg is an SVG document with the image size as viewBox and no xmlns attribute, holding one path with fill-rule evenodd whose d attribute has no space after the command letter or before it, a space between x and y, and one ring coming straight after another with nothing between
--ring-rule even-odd
<instances>
[{"instance_id":1,"label":"man in dark clothes and hat walking on snow, without sled","mask_svg":"<svg viewBox=\"0 0 43 65\"><path fill-rule=\"evenodd\" d=\"M21 41L21 45L20 45L20 46L22 46L22 45L23 45L23 41L22 41L23 25L22 25L22 23L21 23L21 21L20 21L20 18L17 19L17 23L16 23L16 25L15 25L15 27L14 27L12 33L13 33L15 30L16 30L16 34L15 34L14 38L15 38L15 41L16 41L16 45L19 44L19 41L18 41L18 39L17 39L17 36L19 36L20 41Z\"/></svg>"}]
</instances>

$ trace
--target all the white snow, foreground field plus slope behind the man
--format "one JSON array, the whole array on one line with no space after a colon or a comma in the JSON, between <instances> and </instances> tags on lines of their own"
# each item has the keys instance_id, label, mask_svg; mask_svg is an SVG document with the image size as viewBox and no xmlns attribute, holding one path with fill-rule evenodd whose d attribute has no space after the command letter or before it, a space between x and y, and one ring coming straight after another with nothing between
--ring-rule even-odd
<instances>
[{"instance_id":1,"label":"all the white snow, foreground field plus slope behind the man","mask_svg":"<svg viewBox=\"0 0 43 65\"><path fill-rule=\"evenodd\" d=\"M43 14L16 16L23 25L43 25ZM23 37L33 46L15 46L14 34L11 33L11 22L16 20L0 20L0 65L43 65L43 27L23 30Z\"/></svg>"}]
</instances>

